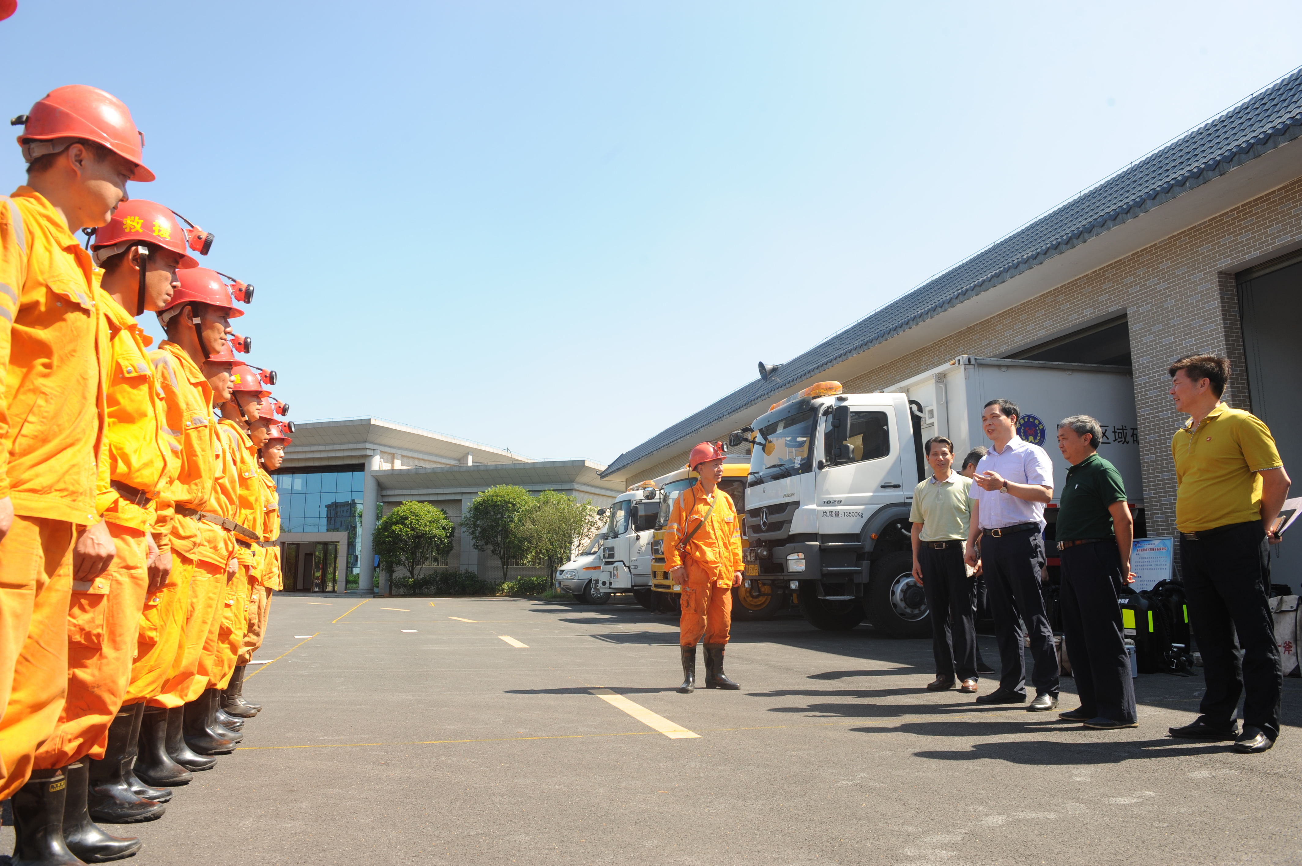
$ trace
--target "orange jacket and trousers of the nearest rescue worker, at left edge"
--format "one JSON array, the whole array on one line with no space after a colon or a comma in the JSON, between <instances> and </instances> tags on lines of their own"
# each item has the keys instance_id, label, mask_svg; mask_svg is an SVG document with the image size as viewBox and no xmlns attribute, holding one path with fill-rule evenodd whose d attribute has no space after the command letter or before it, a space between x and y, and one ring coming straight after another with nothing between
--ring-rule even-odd
<instances>
[{"instance_id":1,"label":"orange jacket and trousers of the nearest rescue worker, at left edge","mask_svg":"<svg viewBox=\"0 0 1302 866\"><path fill-rule=\"evenodd\" d=\"M94 266L43 195L0 198L0 800L30 776L68 689L78 526L99 522L100 357Z\"/></svg>"}]
</instances>

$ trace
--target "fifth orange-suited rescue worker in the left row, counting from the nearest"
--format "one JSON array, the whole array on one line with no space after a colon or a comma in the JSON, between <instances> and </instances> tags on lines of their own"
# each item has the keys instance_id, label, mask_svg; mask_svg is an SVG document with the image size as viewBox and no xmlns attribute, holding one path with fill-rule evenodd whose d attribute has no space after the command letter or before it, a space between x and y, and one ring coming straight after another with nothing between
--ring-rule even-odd
<instances>
[{"instance_id":1,"label":"fifth orange-suited rescue worker in the left row, counting from the nearest","mask_svg":"<svg viewBox=\"0 0 1302 866\"><path fill-rule=\"evenodd\" d=\"M270 376L268 376L270 378ZM238 568L227 593L227 608L219 634L220 663L212 688L225 690L234 675L245 636L249 633L249 615L253 594L258 587L260 565L255 551L262 550L262 495L258 478L258 449L267 441L267 423L259 415L264 397L270 397L262 380L262 371L246 363L237 363L232 372L232 398L221 404L219 430L225 436L225 447L237 457L237 510L236 522L245 531L236 530L236 559ZM256 547L255 547L256 546ZM260 595L260 593L259 593ZM227 714L217 699L217 723L228 731L240 731L243 719ZM242 736L242 734L241 734Z\"/></svg>"}]
</instances>

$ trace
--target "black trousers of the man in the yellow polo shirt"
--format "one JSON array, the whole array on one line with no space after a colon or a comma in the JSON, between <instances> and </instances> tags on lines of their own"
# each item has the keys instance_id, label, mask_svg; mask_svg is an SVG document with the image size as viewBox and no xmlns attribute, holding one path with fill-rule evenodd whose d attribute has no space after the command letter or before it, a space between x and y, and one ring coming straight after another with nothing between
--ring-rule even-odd
<instances>
[{"instance_id":1,"label":"black trousers of the man in the yellow polo shirt","mask_svg":"<svg viewBox=\"0 0 1302 866\"><path fill-rule=\"evenodd\" d=\"M1266 572L1266 530L1260 521L1236 524L1215 535L1180 539L1189 624L1203 654L1202 719L1226 728L1245 689L1243 724L1280 733L1280 649L1271 617ZM1236 641L1243 660L1234 652Z\"/></svg>"}]
</instances>

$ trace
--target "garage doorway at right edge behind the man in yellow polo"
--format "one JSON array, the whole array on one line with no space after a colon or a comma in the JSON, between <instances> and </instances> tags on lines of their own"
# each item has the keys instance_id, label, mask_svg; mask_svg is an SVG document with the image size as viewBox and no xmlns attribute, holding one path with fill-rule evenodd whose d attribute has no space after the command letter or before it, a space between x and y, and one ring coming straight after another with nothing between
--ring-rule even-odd
<instances>
[{"instance_id":1,"label":"garage doorway at right edge behind the man in yellow polo","mask_svg":"<svg viewBox=\"0 0 1302 866\"><path fill-rule=\"evenodd\" d=\"M1240 283L1243 352L1253 414L1264 421L1293 477L1292 496L1302 494L1302 401L1295 371L1302 369L1302 262ZM1233 371L1230 372L1233 376ZM1302 587L1302 526L1294 525L1271 551L1271 582Z\"/></svg>"}]
</instances>

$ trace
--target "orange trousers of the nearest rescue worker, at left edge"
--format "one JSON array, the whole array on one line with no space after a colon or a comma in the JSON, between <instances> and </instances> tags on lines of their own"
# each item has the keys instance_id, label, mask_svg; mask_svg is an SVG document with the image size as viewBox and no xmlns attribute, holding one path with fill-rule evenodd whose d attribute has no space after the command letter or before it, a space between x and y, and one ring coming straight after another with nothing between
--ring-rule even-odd
<instances>
[{"instance_id":1,"label":"orange trousers of the nearest rescue worker, at left edge","mask_svg":"<svg viewBox=\"0 0 1302 866\"><path fill-rule=\"evenodd\" d=\"M17 514L0 540L0 800L27 781L64 708L73 534Z\"/></svg>"}]
</instances>

